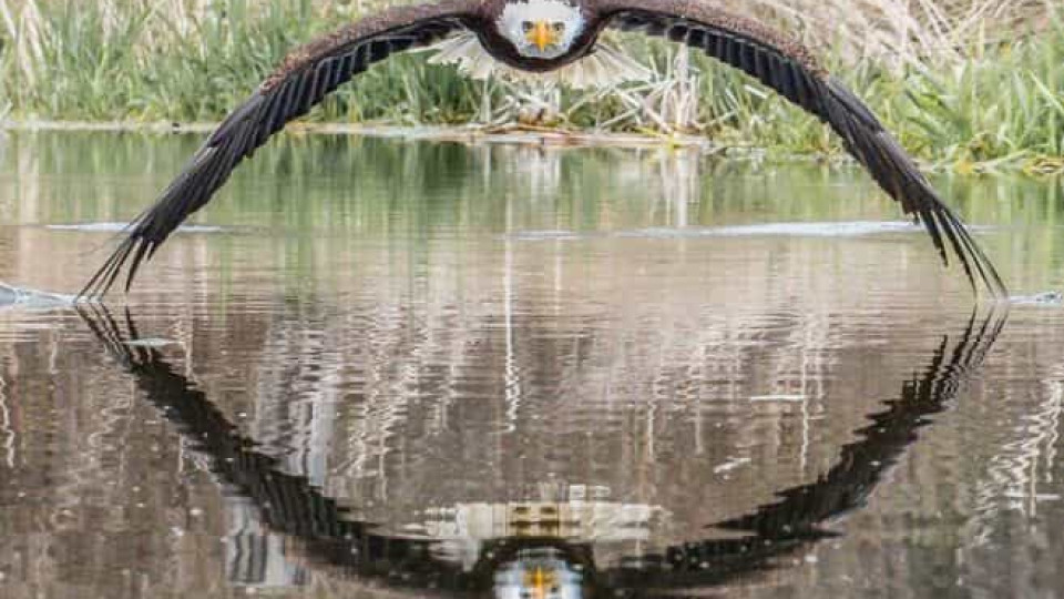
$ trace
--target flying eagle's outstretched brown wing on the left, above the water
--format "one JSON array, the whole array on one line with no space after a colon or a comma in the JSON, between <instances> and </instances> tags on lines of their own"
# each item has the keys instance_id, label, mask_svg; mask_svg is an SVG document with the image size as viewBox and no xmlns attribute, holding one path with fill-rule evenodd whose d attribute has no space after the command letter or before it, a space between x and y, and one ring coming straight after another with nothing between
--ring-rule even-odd
<instances>
[{"instance_id":1,"label":"flying eagle's outstretched brown wing on the left, above the water","mask_svg":"<svg viewBox=\"0 0 1064 599\"><path fill-rule=\"evenodd\" d=\"M326 94L388 55L434 43L474 19L472 0L399 7L335 31L291 52L258 90L207 138L79 296L105 294L126 268L137 268L190 214L203 207L245 158Z\"/></svg>"}]
</instances>

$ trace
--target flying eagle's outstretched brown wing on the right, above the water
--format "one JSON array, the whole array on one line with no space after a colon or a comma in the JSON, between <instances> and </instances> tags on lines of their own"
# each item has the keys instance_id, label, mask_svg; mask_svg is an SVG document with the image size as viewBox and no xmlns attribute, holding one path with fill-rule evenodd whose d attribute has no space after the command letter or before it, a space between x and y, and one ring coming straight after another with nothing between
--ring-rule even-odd
<instances>
[{"instance_id":1,"label":"flying eagle's outstretched brown wing on the right, above the water","mask_svg":"<svg viewBox=\"0 0 1064 599\"><path fill-rule=\"evenodd\" d=\"M608 20L608 27L641 31L703 50L818 116L842 138L850 154L901 204L906 214L923 222L944 263L949 264L949 244L973 290L978 275L992 295L1007 294L990 258L956 213L942 203L904 149L801 43L760 23L692 0L603 0L598 10Z\"/></svg>"}]
</instances>

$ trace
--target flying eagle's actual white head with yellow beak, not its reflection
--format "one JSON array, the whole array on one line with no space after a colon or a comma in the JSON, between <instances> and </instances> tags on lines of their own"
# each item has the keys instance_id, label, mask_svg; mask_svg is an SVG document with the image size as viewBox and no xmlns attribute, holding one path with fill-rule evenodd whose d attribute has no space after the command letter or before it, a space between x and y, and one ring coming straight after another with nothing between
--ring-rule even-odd
<instances>
[{"instance_id":1,"label":"flying eagle's actual white head with yellow beak, not its reflection","mask_svg":"<svg viewBox=\"0 0 1064 599\"><path fill-rule=\"evenodd\" d=\"M521 55L553 59L573 45L584 17L564 0L516 0L507 3L495 24Z\"/></svg>"}]
</instances>

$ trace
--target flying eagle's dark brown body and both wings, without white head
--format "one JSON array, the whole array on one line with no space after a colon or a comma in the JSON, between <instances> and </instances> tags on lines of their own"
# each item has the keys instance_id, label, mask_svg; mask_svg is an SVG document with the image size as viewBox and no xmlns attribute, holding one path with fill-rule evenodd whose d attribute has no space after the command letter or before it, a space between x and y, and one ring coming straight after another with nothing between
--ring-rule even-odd
<instances>
[{"instance_id":1,"label":"flying eagle's dark brown body and both wings, without white head","mask_svg":"<svg viewBox=\"0 0 1064 599\"><path fill-rule=\"evenodd\" d=\"M550 57L529 55L502 29L508 6L528 0L446 0L393 8L362 19L293 51L252 97L231 113L193 155L158 201L130 225L129 236L90 278L81 296L104 295L126 270L129 290L139 267L193 212L209 201L233 169L270 135L306 114L326 94L388 55L424 48L461 30L510 67L550 71L594 50L606 27L684 43L739 69L815 114L838 133L906 214L921 221L943 262L951 247L973 290L1006 290L993 264L958 215L942 201L901 145L856 95L831 77L797 40L756 21L697 0L555 0L571 2L581 29Z\"/></svg>"}]
</instances>

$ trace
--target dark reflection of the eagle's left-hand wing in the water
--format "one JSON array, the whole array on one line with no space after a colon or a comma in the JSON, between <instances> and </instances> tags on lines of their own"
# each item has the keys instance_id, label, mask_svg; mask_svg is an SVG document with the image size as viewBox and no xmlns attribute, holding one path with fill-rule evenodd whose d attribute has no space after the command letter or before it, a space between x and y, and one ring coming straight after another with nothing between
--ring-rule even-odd
<instances>
[{"instance_id":1,"label":"dark reflection of the eagle's left-hand wing in the water","mask_svg":"<svg viewBox=\"0 0 1064 599\"><path fill-rule=\"evenodd\" d=\"M104 307L76 309L108 354L133 376L144 398L181 432L183 447L206 458L219 484L247 498L272 529L303 542L296 555L391 586L462 587L460 565L432 559L430 541L382 534L306 476L285 471L160 351L131 344L140 335L129 312L123 332ZM286 552L293 549L286 545Z\"/></svg>"}]
</instances>

